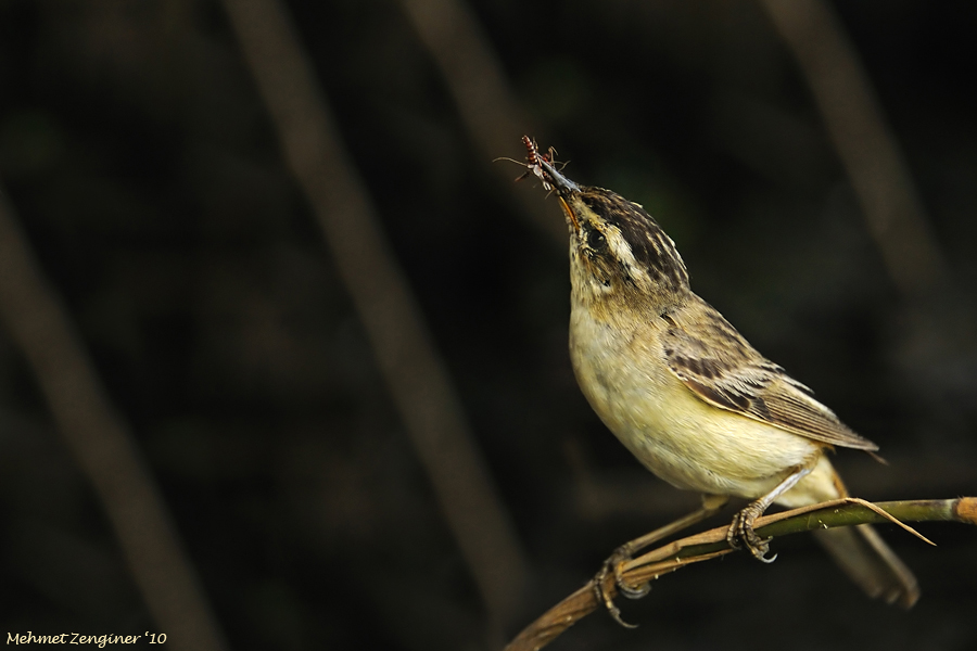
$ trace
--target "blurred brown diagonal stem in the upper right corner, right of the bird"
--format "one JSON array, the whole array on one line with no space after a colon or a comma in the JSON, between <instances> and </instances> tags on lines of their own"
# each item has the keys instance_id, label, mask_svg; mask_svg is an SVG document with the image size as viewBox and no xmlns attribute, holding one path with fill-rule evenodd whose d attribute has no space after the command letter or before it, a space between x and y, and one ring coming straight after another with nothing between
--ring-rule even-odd
<instances>
[{"instance_id":1,"label":"blurred brown diagonal stem in the upper right corner, right of the bird","mask_svg":"<svg viewBox=\"0 0 977 651\"><path fill-rule=\"evenodd\" d=\"M928 302L949 272L868 75L830 3L762 0L811 87L862 214L902 294Z\"/></svg>"}]
</instances>

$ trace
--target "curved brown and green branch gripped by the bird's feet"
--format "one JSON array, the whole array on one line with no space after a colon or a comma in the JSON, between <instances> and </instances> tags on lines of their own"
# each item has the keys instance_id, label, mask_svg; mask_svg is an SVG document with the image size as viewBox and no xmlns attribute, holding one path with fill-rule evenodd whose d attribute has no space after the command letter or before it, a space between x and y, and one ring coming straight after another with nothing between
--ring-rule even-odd
<instances>
[{"instance_id":1,"label":"curved brown and green branch gripped by the bird's feet","mask_svg":"<svg viewBox=\"0 0 977 651\"><path fill-rule=\"evenodd\" d=\"M893 519L899 522L942 521L977 525L977 498L905 500L877 505L839 499L765 515L757 520L756 527L761 537L775 538L834 526L891 522ZM636 588L686 565L725 556L734 551L726 544L727 529L728 526L720 526L642 554L624 564L622 579L629 587ZM611 597L617 595L612 572L605 578L604 589ZM509 642L505 651L542 649L598 607L600 603L592 579L525 627Z\"/></svg>"}]
</instances>

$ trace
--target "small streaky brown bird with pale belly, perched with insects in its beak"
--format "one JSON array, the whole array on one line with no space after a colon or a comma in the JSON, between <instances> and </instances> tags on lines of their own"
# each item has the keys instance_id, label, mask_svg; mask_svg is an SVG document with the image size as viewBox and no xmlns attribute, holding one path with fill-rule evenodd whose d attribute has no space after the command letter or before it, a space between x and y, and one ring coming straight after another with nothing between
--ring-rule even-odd
<instances>
[{"instance_id":1,"label":"small streaky brown bird with pale belly, perched with insects in its beak","mask_svg":"<svg viewBox=\"0 0 977 651\"><path fill-rule=\"evenodd\" d=\"M570 355L581 390L648 470L702 494L706 510L731 496L754 500L727 537L772 561L753 521L774 502L847 496L825 451L878 446L689 289L674 242L642 206L578 186L524 140L529 173L556 192L570 229ZM915 577L871 526L815 536L871 597L915 603Z\"/></svg>"}]
</instances>

